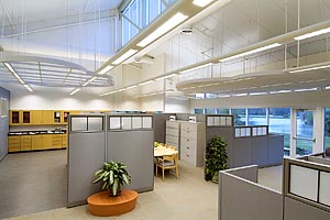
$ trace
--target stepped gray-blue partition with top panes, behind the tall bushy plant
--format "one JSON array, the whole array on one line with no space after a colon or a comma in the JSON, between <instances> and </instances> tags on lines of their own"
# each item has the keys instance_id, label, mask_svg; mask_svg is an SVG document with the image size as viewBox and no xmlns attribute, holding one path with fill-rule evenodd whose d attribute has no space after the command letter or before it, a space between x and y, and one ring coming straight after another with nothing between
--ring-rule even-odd
<instances>
[{"instance_id":1,"label":"stepped gray-blue partition with top panes, behind the tall bushy plant","mask_svg":"<svg viewBox=\"0 0 330 220\"><path fill-rule=\"evenodd\" d=\"M282 164L284 136L268 134L267 125L234 127L231 114L207 114L207 142L220 135L228 143L229 166Z\"/></svg>"}]
</instances>

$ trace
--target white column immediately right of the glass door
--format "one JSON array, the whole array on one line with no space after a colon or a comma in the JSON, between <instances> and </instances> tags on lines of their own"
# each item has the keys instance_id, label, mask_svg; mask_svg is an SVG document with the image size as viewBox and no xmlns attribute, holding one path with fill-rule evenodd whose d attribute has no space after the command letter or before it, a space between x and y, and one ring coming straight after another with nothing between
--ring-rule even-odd
<instances>
[{"instance_id":1,"label":"white column immediately right of the glass door","mask_svg":"<svg viewBox=\"0 0 330 220\"><path fill-rule=\"evenodd\" d=\"M312 153L323 152L324 143L324 111L322 107L317 107L314 114L314 139Z\"/></svg>"}]
</instances>

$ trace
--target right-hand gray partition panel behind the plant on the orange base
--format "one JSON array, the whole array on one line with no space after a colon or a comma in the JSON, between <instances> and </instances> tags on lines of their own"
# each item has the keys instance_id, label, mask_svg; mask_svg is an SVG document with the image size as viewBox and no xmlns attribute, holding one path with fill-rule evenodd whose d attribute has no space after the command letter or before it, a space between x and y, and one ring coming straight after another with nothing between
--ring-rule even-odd
<instances>
[{"instance_id":1,"label":"right-hand gray partition panel behind the plant on the orange base","mask_svg":"<svg viewBox=\"0 0 330 220\"><path fill-rule=\"evenodd\" d=\"M151 120L146 122L146 120ZM139 193L154 188L154 131L151 114L113 114L107 117L108 161L121 161L132 175L127 188ZM146 124L147 123L147 124Z\"/></svg>"}]
</instances>

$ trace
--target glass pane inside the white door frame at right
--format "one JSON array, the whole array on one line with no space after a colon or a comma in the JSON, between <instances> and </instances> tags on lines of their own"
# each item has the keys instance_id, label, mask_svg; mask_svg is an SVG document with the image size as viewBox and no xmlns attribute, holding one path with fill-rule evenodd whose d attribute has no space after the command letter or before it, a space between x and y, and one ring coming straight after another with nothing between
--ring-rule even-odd
<instances>
[{"instance_id":1,"label":"glass pane inside the white door frame at right","mask_svg":"<svg viewBox=\"0 0 330 220\"><path fill-rule=\"evenodd\" d=\"M314 111L297 110L297 134L296 134L296 154L307 155L312 153L314 139Z\"/></svg>"}]
</instances>

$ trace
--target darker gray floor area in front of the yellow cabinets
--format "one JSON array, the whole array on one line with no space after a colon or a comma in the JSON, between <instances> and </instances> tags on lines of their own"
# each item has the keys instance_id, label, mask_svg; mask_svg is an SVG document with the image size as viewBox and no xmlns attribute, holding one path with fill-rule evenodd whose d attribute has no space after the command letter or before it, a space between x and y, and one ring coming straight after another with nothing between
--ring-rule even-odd
<instances>
[{"instance_id":1,"label":"darker gray floor area in front of the yellow cabinets","mask_svg":"<svg viewBox=\"0 0 330 220\"><path fill-rule=\"evenodd\" d=\"M66 206L66 150L9 154L0 162L0 219Z\"/></svg>"}]
</instances>

